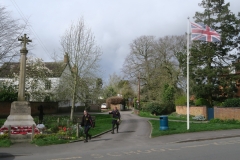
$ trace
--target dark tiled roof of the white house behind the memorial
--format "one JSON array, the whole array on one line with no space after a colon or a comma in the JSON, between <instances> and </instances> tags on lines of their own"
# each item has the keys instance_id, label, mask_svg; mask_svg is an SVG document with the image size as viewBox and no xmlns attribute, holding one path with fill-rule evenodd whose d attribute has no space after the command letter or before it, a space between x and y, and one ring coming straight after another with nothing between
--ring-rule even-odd
<instances>
[{"instance_id":1,"label":"dark tiled roof of the white house behind the memorial","mask_svg":"<svg viewBox=\"0 0 240 160\"><path fill-rule=\"evenodd\" d=\"M19 62L6 62L0 67L0 77L13 77L13 74L18 74L20 71ZM63 70L67 66L64 62L44 62L45 67L52 71L49 77L60 77Z\"/></svg>"}]
</instances>

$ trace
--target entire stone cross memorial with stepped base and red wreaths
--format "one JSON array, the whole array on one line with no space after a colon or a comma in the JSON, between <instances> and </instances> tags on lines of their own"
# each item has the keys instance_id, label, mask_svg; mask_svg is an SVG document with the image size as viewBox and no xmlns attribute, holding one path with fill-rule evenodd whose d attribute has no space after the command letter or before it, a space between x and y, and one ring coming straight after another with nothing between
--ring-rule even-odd
<instances>
[{"instance_id":1,"label":"entire stone cross memorial with stepped base and red wreaths","mask_svg":"<svg viewBox=\"0 0 240 160\"><path fill-rule=\"evenodd\" d=\"M26 55L28 53L26 45L32 41L29 40L26 34L19 38L18 41L21 41L23 44L20 50L18 100L12 102L10 115L7 117L0 132L8 132L13 142L24 142L31 141L34 134L38 133L39 130L36 128L36 124L31 116L30 102L25 101Z\"/></svg>"}]
</instances>

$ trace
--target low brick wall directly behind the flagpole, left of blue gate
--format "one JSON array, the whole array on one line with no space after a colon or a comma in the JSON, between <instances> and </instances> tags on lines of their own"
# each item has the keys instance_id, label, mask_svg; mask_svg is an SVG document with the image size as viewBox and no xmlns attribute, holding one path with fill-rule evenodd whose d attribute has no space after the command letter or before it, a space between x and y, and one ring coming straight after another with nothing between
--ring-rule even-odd
<instances>
[{"instance_id":1,"label":"low brick wall directly behind the flagpole, left of blue gate","mask_svg":"<svg viewBox=\"0 0 240 160\"><path fill-rule=\"evenodd\" d=\"M187 106L176 106L177 114L187 114ZM206 106L190 106L189 114L193 116L203 115L207 118L207 107Z\"/></svg>"}]
</instances>

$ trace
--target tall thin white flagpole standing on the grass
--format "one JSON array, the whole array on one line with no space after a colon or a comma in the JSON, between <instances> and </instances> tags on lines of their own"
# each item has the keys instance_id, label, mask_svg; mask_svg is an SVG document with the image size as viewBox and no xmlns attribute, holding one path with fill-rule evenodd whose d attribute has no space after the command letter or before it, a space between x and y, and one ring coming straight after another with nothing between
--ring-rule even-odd
<instances>
[{"instance_id":1,"label":"tall thin white flagpole standing on the grass","mask_svg":"<svg viewBox=\"0 0 240 160\"><path fill-rule=\"evenodd\" d=\"M189 17L187 22L187 130L189 130Z\"/></svg>"}]
</instances>

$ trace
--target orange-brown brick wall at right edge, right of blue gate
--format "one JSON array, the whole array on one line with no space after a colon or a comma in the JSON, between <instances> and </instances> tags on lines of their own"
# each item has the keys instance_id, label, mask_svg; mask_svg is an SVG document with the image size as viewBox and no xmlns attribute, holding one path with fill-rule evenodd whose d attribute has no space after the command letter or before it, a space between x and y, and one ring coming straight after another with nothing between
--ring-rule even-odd
<instances>
[{"instance_id":1,"label":"orange-brown brick wall at right edge, right of blue gate","mask_svg":"<svg viewBox=\"0 0 240 160\"><path fill-rule=\"evenodd\" d=\"M214 118L240 120L240 107L214 107Z\"/></svg>"}]
</instances>

